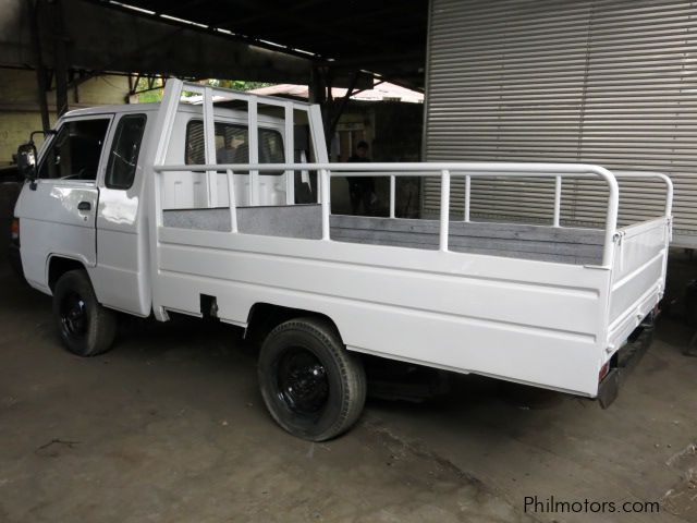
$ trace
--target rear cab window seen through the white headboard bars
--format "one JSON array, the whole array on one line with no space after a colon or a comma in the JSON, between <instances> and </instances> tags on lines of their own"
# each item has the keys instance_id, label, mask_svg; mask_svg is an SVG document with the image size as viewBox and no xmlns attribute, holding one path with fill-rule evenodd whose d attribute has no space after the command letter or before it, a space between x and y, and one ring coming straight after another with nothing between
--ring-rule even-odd
<instances>
[{"instance_id":1,"label":"rear cab window seen through the white headboard bars","mask_svg":"<svg viewBox=\"0 0 697 523\"><path fill-rule=\"evenodd\" d=\"M187 165L206 163L204 122L191 120L186 125ZM283 138L271 129L259 129L259 162L283 163ZM216 160L218 163L248 163L249 145L246 125L216 122ZM239 172L244 174L246 172ZM261 171L261 174L283 174L283 171Z\"/></svg>"}]
</instances>

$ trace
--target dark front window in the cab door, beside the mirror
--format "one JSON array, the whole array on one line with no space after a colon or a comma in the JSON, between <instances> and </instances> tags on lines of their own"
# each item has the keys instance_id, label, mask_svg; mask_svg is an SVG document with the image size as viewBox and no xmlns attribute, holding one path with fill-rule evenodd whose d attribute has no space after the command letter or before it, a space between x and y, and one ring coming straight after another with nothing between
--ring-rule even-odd
<instances>
[{"instance_id":1,"label":"dark front window in the cab door, beside the mirror","mask_svg":"<svg viewBox=\"0 0 697 523\"><path fill-rule=\"evenodd\" d=\"M64 123L44 156L39 178L95 180L108 127L108 119Z\"/></svg>"}]
</instances>

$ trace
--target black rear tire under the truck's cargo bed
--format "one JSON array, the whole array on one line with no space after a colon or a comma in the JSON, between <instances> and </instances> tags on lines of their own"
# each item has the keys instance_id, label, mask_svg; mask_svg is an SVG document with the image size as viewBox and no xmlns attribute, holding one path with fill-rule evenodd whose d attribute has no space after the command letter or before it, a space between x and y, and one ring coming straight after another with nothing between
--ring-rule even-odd
<instances>
[{"instance_id":1,"label":"black rear tire under the truck's cargo bed","mask_svg":"<svg viewBox=\"0 0 697 523\"><path fill-rule=\"evenodd\" d=\"M298 438L335 438L363 412L363 364L328 321L298 318L276 327L261 345L258 376L271 416Z\"/></svg>"}]
</instances>

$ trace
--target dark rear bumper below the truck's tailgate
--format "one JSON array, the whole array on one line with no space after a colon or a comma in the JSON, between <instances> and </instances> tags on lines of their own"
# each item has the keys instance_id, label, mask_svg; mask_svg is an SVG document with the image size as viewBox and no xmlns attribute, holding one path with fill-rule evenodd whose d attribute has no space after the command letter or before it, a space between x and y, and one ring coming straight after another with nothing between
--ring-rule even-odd
<instances>
[{"instance_id":1,"label":"dark rear bumper below the truck's tailgate","mask_svg":"<svg viewBox=\"0 0 697 523\"><path fill-rule=\"evenodd\" d=\"M601 408L607 409L614 402L620 392L620 386L651 346L653 317L653 313L647 316L641 325L632 332L627 343L615 354L612 368L598 387L598 402Z\"/></svg>"}]
</instances>

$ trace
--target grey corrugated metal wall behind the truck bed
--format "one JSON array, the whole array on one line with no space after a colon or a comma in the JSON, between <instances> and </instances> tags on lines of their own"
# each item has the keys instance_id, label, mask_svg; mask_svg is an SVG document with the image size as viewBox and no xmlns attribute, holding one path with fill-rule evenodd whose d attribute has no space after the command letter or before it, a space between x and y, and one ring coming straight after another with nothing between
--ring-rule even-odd
<instances>
[{"instance_id":1,"label":"grey corrugated metal wall behind the truck bed","mask_svg":"<svg viewBox=\"0 0 697 523\"><path fill-rule=\"evenodd\" d=\"M697 1L431 0L425 156L656 170L697 246ZM473 216L551 219L553 182L473 180ZM453 181L452 205L463 184ZM439 206L425 186L424 210ZM662 187L621 183L620 221ZM562 219L599 222L602 184L564 182Z\"/></svg>"}]
</instances>

